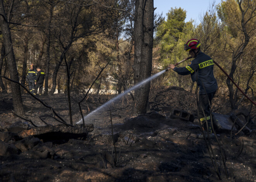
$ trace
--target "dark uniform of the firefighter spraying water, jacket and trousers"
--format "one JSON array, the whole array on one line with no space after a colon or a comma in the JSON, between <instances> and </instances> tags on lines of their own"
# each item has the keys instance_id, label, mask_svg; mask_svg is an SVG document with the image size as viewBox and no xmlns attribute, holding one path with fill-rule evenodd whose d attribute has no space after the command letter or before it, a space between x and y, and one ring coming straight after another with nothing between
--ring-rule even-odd
<instances>
[{"instance_id":1,"label":"dark uniform of the firefighter spraying water, jacket and trousers","mask_svg":"<svg viewBox=\"0 0 256 182\"><path fill-rule=\"evenodd\" d=\"M193 82L197 82L199 87L199 119L203 126L205 125L205 120L208 120L208 127L211 130L210 118L210 104L213 96L218 88L217 81L213 75L213 59L208 55L199 52L195 59L191 61L186 67L177 68L173 70L179 75L191 75ZM208 101L209 98L209 101ZM206 118L204 117L204 114ZM206 126L204 126L206 128Z\"/></svg>"}]
</instances>

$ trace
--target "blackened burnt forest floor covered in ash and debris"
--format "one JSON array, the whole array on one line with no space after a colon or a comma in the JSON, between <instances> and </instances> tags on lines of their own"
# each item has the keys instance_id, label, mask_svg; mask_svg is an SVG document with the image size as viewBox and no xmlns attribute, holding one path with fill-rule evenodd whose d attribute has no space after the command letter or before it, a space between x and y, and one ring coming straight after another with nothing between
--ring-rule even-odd
<instances>
[{"instance_id":1,"label":"blackened burnt forest floor covered in ash and debris","mask_svg":"<svg viewBox=\"0 0 256 182\"><path fill-rule=\"evenodd\" d=\"M52 118L51 110L28 94L22 95L22 99L25 117L35 125L45 126L39 117L54 126L61 124ZM42 96L41 99L69 121L65 95ZM72 99L74 123L81 119L77 105L80 99ZM97 99L99 102L95 102ZM106 96L88 99L88 104L82 105L83 112L87 106L91 111L107 99ZM196 138L201 133L197 119L190 122L170 118L168 113L159 110L145 116L133 116L132 107L127 102L113 105L115 147L109 110L100 111L86 120L94 125L94 129L85 137L60 139L50 135L47 140L42 136L21 139L16 136L19 131L16 134L7 132L11 124L22 121L26 129L34 127L10 113L13 109L11 95L2 95L0 134L9 135L0 141L0 181L256 181L255 132L251 136L239 133L232 139L230 133L217 133L219 142L207 140L208 150L206 141Z\"/></svg>"}]
</instances>

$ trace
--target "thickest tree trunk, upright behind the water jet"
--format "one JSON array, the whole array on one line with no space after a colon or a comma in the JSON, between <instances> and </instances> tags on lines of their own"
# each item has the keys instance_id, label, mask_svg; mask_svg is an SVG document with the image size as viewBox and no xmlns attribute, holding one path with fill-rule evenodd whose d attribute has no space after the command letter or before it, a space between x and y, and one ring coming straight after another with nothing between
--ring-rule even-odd
<instances>
[{"instance_id":1,"label":"thickest tree trunk, upright behind the water jet","mask_svg":"<svg viewBox=\"0 0 256 182\"><path fill-rule=\"evenodd\" d=\"M136 0L134 41L135 58L133 69L135 71L135 84L150 77L152 70L152 48L154 31L154 0ZM142 85L135 90L136 114L145 114L149 100L150 83Z\"/></svg>"}]
</instances>

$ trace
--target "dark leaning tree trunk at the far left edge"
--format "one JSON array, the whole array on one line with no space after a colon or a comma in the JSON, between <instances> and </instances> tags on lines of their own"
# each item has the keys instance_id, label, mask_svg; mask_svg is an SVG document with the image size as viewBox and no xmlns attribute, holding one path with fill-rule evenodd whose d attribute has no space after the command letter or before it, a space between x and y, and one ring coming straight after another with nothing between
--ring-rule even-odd
<instances>
[{"instance_id":1,"label":"dark leaning tree trunk at the far left edge","mask_svg":"<svg viewBox=\"0 0 256 182\"><path fill-rule=\"evenodd\" d=\"M0 2L0 26L3 35L3 45L5 47L5 53L7 58L7 65L9 68L10 78L19 82L19 75L17 71L17 65L15 61L14 51L12 47L12 39L10 36L9 24L7 22L7 17L5 14L3 1ZM15 114L19 116L24 115L24 109L21 99L21 88L18 83L11 83L12 90L12 102Z\"/></svg>"}]
</instances>

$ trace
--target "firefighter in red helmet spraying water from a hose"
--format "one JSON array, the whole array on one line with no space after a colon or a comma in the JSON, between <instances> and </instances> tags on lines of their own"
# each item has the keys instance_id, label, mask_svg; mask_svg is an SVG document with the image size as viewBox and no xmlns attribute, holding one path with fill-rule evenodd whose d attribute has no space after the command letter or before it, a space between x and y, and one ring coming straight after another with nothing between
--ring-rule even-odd
<instances>
[{"instance_id":1,"label":"firefighter in red helmet spraying water from a hose","mask_svg":"<svg viewBox=\"0 0 256 182\"><path fill-rule=\"evenodd\" d=\"M184 50L189 51L190 56L195 59L185 67L177 68L175 65L170 64L169 68L179 75L190 74L192 81L196 81L199 87L198 117L204 130L212 133L210 106L218 85L213 75L213 59L201 52L200 46L201 43L197 39L187 41L184 44ZM197 137L202 138L202 135Z\"/></svg>"}]
</instances>

